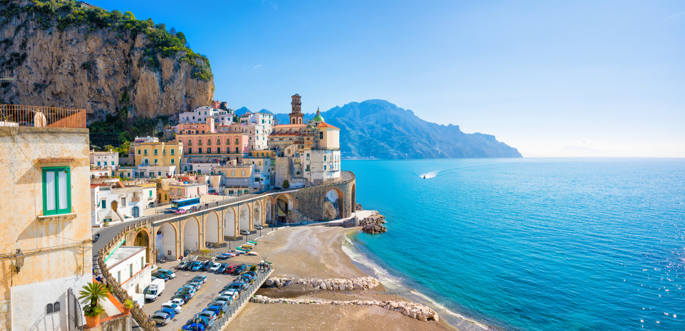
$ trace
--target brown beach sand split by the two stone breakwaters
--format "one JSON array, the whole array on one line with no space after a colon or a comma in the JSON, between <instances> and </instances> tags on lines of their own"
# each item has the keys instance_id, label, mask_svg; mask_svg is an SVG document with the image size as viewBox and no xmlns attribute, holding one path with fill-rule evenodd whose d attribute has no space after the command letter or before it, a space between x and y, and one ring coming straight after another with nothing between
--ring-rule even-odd
<instances>
[{"instance_id":1,"label":"brown beach sand split by the two stone breakwaters","mask_svg":"<svg viewBox=\"0 0 685 331\"><path fill-rule=\"evenodd\" d=\"M259 239L255 250L273 263L274 277L356 278L368 276L343 252L351 228L297 226L279 228ZM256 256L255 256L256 257ZM380 285L366 291L305 291L291 284L283 289L260 289L272 298L327 300L404 300L379 293ZM442 319L419 321L378 306L256 304L249 302L227 330L456 330Z\"/></svg>"}]
</instances>

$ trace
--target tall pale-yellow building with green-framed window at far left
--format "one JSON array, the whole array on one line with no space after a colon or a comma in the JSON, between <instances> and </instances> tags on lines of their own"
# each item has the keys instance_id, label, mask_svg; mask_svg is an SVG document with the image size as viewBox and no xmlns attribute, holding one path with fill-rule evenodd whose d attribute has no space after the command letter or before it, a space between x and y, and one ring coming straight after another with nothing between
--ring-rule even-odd
<instances>
[{"instance_id":1,"label":"tall pale-yellow building with green-framed window at far left","mask_svg":"<svg viewBox=\"0 0 685 331\"><path fill-rule=\"evenodd\" d=\"M0 146L0 330L76 330L92 281L86 110L0 105Z\"/></svg>"}]
</instances>

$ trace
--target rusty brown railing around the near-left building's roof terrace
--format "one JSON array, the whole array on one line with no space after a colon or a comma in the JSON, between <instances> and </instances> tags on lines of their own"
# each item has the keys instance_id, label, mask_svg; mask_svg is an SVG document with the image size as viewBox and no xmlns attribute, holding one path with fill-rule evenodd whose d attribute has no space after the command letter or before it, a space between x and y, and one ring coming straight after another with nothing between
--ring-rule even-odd
<instances>
[{"instance_id":1,"label":"rusty brown railing around the near-left building's roof terrace","mask_svg":"<svg viewBox=\"0 0 685 331\"><path fill-rule=\"evenodd\" d=\"M0 127L86 128L86 109L0 105Z\"/></svg>"}]
</instances>

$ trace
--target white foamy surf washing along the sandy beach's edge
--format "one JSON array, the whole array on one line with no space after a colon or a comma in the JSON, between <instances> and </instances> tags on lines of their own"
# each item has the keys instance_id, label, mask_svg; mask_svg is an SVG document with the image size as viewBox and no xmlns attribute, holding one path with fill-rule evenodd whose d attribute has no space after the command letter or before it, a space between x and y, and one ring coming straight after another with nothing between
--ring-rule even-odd
<instances>
[{"instance_id":1,"label":"white foamy surf washing along the sandy beach's edge","mask_svg":"<svg viewBox=\"0 0 685 331\"><path fill-rule=\"evenodd\" d=\"M428 178L426 176L426 178ZM497 331L497 329L487 326L484 323L470 319L459 313L449 310L447 307L439 304L431 297L416 291L415 289L408 289L402 284L402 279L391 275L386 269L369 259L369 256L361 252L358 246L346 235L343 241L343 252L347 254L353 262L362 265L360 269L366 274L375 276L388 289L389 293L407 297L414 302L419 302L430 306L440 314L449 324L456 326L459 330L465 331ZM364 270L366 269L366 270Z\"/></svg>"}]
</instances>

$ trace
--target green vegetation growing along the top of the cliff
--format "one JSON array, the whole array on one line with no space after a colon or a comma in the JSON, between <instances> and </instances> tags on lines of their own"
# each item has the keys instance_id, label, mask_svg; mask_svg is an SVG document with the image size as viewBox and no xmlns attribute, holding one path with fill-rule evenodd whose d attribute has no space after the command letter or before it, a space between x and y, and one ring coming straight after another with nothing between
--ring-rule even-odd
<instances>
[{"instance_id":1,"label":"green vegetation growing along the top of the cliff","mask_svg":"<svg viewBox=\"0 0 685 331\"><path fill-rule=\"evenodd\" d=\"M97 29L109 29L119 32L121 38L130 38L136 40L138 34L147 35L150 41L145 45L146 49L140 57L139 66L149 66L150 68L160 71L161 66L157 55L162 57L178 57L180 61L188 62L194 66L192 78L200 79L202 81L210 81L212 79L212 70L210 69L209 59L205 55L194 53L183 32L175 31L172 27L168 31L164 23L155 23L152 18L145 21L137 20L132 12L119 12L119 10L112 10L108 12L98 7L86 7L77 1L29 1L27 5L19 5L16 1L1 0L0 4L5 5L5 8L0 10L0 28L4 27L12 18L18 18L21 14L27 14L27 18L38 23L41 29L51 29L56 26L58 31L64 31L69 27L86 27L88 32ZM22 24L26 24L24 21ZM19 29L16 29L18 31ZM2 44L7 45L14 42L14 38L7 38L2 40ZM10 59L3 62L3 69L6 66L21 65L25 53L12 54ZM84 62L84 68L88 64Z\"/></svg>"}]
</instances>

